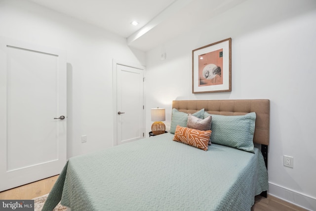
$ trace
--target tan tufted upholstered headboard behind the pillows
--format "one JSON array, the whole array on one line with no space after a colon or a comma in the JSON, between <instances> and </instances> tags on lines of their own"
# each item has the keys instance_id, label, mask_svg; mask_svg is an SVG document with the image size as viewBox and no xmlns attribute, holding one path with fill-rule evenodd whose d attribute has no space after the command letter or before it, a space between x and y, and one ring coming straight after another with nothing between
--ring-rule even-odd
<instances>
[{"instance_id":1,"label":"tan tufted upholstered headboard behind the pillows","mask_svg":"<svg viewBox=\"0 0 316 211\"><path fill-rule=\"evenodd\" d=\"M204 108L209 114L226 116L256 112L253 142L269 145L270 100L174 100L172 101L172 108L191 114Z\"/></svg>"}]
</instances>

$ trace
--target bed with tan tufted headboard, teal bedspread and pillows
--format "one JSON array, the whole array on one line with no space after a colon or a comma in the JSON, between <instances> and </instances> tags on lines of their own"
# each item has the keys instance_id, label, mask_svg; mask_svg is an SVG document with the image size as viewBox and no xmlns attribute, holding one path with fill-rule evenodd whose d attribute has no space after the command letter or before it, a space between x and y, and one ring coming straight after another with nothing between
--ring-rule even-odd
<instances>
[{"instance_id":1,"label":"bed with tan tufted headboard, teal bedspread and pillows","mask_svg":"<svg viewBox=\"0 0 316 211\"><path fill-rule=\"evenodd\" d=\"M202 118L197 113L203 113ZM171 131L178 123L175 117L192 114L197 116L190 118L201 121L212 116L213 142L206 150L173 140L179 128L188 129L177 125ZM245 119L244 129L240 124ZM60 201L72 211L250 210L256 195L267 194L269 119L266 99L175 100L170 132L70 158L43 211L53 210ZM234 138L240 131L252 133L254 147L212 139L230 133L219 132L223 121Z\"/></svg>"}]
</instances>

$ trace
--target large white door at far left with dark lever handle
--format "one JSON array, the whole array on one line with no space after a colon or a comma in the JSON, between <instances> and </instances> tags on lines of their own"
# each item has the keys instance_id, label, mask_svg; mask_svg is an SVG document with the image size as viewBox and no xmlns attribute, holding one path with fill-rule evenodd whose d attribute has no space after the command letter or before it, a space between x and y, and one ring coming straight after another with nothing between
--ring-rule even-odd
<instances>
[{"instance_id":1,"label":"large white door at far left with dark lever handle","mask_svg":"<svg viewBox=\"0 0 316 211\"><path fill-rule=\"evenodd\" d=\"M1 38L0 191L59 174L66 125L65 54Z\"/></svg>"}]
</instances>

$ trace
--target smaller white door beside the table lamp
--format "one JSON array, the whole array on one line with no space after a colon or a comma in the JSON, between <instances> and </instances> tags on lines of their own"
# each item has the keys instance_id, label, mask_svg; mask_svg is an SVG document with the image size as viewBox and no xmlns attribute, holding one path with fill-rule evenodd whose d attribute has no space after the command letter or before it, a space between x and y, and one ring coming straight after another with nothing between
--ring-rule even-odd
<instances>
[{"instance_id":1,"label":"smaller white door beside the table lamp","mask_svg":"<svg viewBox=\"0 0 316 211\"><path fill-rule=\"evenodd\" d=\"M117 65L117 144L144 137L144 74L142 69Z\"/></svg>"}]
</instances>

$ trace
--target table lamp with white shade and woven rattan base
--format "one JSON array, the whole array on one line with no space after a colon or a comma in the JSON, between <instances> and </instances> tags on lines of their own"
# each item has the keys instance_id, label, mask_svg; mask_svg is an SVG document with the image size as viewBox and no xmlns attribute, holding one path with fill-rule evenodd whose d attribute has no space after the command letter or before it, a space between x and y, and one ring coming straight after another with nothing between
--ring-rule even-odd
<instances>
[{"instance_id":1,"label":"table lamp with white shade and woven rattan base","mask_svg":"<svg viewBox=\"0 0 316 211\"><path fill-rule=\"evenodd\" d=\"M155 135L159 135L164 133L166 130L166 126L163 124L162 121L166 120L166 114L164 108L152 108L151 109L151 116L152 116L152 132Z\"/></svg>"}]
</instances>

